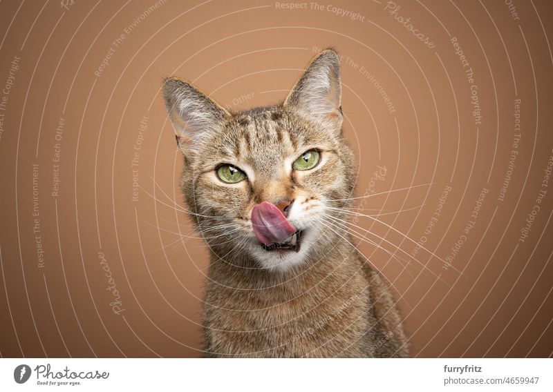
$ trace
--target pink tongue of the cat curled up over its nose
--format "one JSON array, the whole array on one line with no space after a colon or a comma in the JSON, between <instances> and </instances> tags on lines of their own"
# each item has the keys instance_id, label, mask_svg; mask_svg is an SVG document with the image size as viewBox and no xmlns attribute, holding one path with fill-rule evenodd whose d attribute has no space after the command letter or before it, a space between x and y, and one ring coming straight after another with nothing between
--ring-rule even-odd
<instances>
[{"instance_id":1,"label":"pink tongue of the cat curled up over its nose","mask_svg":"<svg viewBox=\"0 0 553 392\"><path fill-rule=\"evenodd\" d=\"M269 202L254 206L252 225L257 239L265 245L285 242L296 233L296 228L286 220L281 210Z\"/></svg>"}]
</instances>

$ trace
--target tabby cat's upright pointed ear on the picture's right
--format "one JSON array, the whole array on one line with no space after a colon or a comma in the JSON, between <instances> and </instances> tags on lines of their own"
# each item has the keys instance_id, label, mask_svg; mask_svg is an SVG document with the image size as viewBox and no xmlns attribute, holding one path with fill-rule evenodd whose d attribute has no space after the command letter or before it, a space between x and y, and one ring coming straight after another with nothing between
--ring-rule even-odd
<instances>
[{"instance_id":1,"label":"tabby cat's upright pointed ear on the picture's right","mask_svg":"<svg viewBox=\"0 0 553 392\"><path fill-rule=\"evenodd\" d=\"M284 106L341 128L340 61L334 50L323 50L309 63L284 101Z\"/></svg>"}]
</instances>

